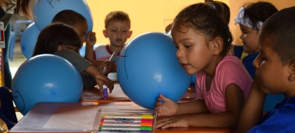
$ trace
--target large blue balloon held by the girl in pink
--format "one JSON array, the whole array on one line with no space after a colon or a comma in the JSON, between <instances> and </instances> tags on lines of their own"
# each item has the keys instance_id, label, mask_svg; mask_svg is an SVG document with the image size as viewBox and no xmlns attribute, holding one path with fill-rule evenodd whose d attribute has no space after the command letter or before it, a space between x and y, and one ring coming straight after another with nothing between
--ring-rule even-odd
<instances>
[{"instance_id":1,"label":"large blue balloon held by the girl in pink","mask_svg":"<svg viewBox=\"0 0 295 133\"><path fill-rule=\"evenodd\" d=\"M159 93L178 102L191 82L179 65L171 36L149 32L122 49L117 64L119 84L135 104L153 109Z\"/></svg>"}]
</instances>

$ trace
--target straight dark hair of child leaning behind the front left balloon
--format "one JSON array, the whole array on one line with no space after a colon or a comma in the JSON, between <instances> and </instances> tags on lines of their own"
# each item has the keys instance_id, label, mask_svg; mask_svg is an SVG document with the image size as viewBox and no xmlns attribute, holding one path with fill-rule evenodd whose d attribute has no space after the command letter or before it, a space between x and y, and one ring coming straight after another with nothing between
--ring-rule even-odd
<instances>
[{"instance_id":1,"label":"straight dark hair of child leaning behind the front left balloon","mask_svg":"<svg viewBox=\"0 0 295 133\"><path fill-rule=\"evenodd\" d=\"M41 30L32 56L55 53L58 46L74 46L80 49L81 40L73 27L63 23L52 23Z\"/></svg>"}]
</instances>

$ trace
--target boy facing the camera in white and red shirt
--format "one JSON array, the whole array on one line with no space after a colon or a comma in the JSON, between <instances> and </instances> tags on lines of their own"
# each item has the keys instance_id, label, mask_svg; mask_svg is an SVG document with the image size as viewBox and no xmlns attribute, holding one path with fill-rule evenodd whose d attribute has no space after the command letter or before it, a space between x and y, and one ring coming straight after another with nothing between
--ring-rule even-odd
<instances>
[{"instance_id":1,"label":"boy facing the camera in white and red shirt","mask_svg":"<svg viewBox=\"0 0 295 133\"><path fill-rule=\"evenodd\" d=\"M105 19L105 28L106 29L103 30L103 35L109 38L110 44L96 47L93 55L94 59L109 59L114 52L117 52L119 55L126 40L130 38L132 34L128 14L121 11L111 12L107 15ZM116 60L117 59L115 59L115 62Z\"/></svg>"}]
</instances>

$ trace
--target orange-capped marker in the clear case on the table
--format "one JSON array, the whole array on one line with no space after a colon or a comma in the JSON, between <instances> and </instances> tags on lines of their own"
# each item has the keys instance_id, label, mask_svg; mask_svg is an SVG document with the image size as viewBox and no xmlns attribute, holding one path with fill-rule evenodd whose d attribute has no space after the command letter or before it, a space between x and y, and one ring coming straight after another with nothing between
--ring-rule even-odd
<instances>
[{"instance_id":1,"label":"orange-capped marker in the clear case on the table","mask_svg":"<svg viewBox=\"0 0 295 133\"><path fill-rule=\"evenodd\" d=\"M149 123L149 122L100 122L99 126L132 126L132 127L148 126L148 127L152 127L152 123Z\"/></svg>"}]
</instances>

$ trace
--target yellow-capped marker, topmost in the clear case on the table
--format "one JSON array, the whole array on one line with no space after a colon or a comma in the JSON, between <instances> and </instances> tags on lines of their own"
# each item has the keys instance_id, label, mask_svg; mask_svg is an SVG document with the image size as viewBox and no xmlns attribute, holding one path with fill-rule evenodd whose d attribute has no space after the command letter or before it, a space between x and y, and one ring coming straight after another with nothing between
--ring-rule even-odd
<instances>
[{"instance_id":1,"label":"yellow-capped marker, topmost in the clear case on the table","mask_svg":"<svg viewBox=\"0 0 295 133\"><path fill-rule=\"evenodd\" d=\"M101 118L153 119L151 114L103 114Z\"/></svg>"}]
</instances>

